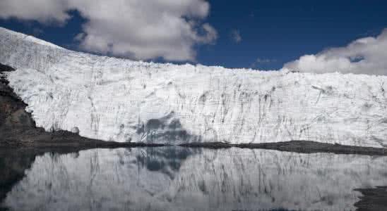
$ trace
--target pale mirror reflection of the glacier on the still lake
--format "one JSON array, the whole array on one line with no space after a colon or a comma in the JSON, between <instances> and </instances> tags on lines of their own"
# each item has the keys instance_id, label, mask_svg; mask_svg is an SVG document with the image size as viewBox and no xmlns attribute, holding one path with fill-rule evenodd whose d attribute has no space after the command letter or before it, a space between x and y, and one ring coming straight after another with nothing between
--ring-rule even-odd
<instances>
[{"instance_id":1,"label":"pale mirror reflection of the glacier on the still lake","mask_svg":"<svg viewBox=\"0 0 387 211\"><path fill-rule=\"evenodd\" d=\"M4 158L1 158L4 159ZM2 167L2 166L1 166ZM94 149L35 158L11 210L355 210L387 158L229 148Z\"/></svg>"}]
</instances>

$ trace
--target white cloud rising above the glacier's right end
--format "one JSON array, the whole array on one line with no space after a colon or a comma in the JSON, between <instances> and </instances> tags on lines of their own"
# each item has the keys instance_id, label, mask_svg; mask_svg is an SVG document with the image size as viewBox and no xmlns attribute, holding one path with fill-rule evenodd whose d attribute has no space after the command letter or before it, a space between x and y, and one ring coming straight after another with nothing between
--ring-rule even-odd
<instances>
[{"instance_id":1,"label":"white cloud rising above the glacier's right end","mask_svg":"<svg viewBox=\"0 0 387 211\"><path fill-rule=\"evenodd\" d=\"M387 29L378 37L364 37L345 47L301 56L284 68L301 72L352 72L387 75Z\"/></svg>"}]
</instances>

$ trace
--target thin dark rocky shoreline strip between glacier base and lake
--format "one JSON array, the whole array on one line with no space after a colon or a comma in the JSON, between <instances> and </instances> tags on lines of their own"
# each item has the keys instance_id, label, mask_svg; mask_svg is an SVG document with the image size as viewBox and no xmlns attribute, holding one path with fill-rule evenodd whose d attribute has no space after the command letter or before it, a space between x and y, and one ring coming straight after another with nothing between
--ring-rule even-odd
<instances>
[{"instance_id":1,"label":"thin dark rocky shoreline strip between glacier base and lake","mask_svg":"<svg viewBox=\"0 0 387 211\"><path fill-rule=\"evenodd\" d=\"M59 132L61 133L61 132ZM54 135L53 135L54 136ZM4 141L0 140L1 143ZM246 149L264 149L284 151L291 153L334 153L338 155L371 155L371 156L387 156L387 151L384 148L362 147L362 146L345 146L340 144L319 143L316 141L285 141L277 143L222 143L222 142L203 142L203 143L181 143L181 144L166 144L166 143L131 143L131 142L114 142L100 141L89 139L86 141L69 141L69 142L47 142L36 141L23 143L16 141L14 144L4 146L0 144L1 149L19 150L19 149L36 149L38 151L82 151L93 148L143 148L143 147L165 147L179 146L185 148L210 148L210 149L225 149L225 148L246 148Z\"/></svg>"}]
</instances>

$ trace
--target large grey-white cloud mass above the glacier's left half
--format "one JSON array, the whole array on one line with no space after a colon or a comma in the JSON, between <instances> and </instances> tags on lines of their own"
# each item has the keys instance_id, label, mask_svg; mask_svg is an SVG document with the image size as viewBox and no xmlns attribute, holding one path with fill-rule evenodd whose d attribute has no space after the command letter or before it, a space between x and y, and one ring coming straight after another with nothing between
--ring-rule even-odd
<instances>
[{"instance_id":1,"label":"large grey-white cloud mass above the glacier's left half","mask_svg":"<svg viewBox=\"0 0 387 211\"><path fill-rule=\"evenodd\" d=\"M204 0L1 0L0 18L64 24L76 10L87 21L76 36L82 49L136 59L194 60L196 44L213 44Z\"/></svg>"}]
</instances>

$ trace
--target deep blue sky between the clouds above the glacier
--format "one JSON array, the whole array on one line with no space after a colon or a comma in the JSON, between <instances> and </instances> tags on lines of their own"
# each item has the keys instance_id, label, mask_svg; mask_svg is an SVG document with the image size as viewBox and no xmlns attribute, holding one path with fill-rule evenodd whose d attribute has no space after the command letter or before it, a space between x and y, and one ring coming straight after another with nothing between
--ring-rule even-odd
<instances>
[{"instance_id":1,"label":"deep blue sky between the clouds above the glacier","mask_svg":"<svg viewBox=\"0 0 387 211\"><path fill-rule=\"evenodd\" d=\"M387 1L213 0L208 3L210 9L201 21L209 23L218 37L211 43L195 44L196 61L191 63L279 69L305 54L346 46L362 37L376 37L387 27ZM0 19L0 26L34 34L68 49L87 51L74 39L87 20L77 11L70 14L72 18L61 25L16 16ZM235 40L237 33L239 41Z\"/></svg>"}]
</instances>

